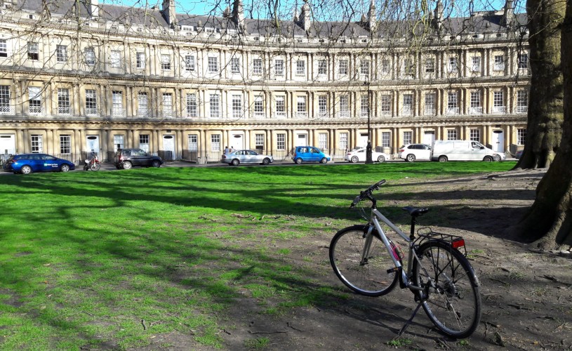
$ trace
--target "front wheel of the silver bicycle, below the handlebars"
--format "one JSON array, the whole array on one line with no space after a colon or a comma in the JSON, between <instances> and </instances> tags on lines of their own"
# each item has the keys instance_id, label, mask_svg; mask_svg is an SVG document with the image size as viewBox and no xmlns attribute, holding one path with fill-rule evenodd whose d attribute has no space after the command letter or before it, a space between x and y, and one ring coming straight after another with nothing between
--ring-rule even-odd
<instances>
[{"instance_id":1,"label":"front wheel of the silver bicycle, below the handlebars","mask_svg":"<svg viewBox=\"0 0 572 351\"><path fill-rule=\"evenodd\" d=\"M330 263L335 275L352 291L364 296L382 296L394 289L397 274L383 241L372 238L367 263L361 264L366 241L365 225L354 225L337 232L330 244Z\"/></svg>"}]
</instances>

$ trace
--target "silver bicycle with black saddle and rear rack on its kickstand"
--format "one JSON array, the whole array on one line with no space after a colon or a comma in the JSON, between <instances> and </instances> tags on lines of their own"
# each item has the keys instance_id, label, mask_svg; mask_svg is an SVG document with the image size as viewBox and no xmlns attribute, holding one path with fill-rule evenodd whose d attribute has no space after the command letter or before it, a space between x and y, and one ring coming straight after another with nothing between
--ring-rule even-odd
<instances>
[{"instance_id":1,"label":"silver bicycle with black saddle and rear rack on its kickstand","mask_svg":"<svg viewBox=\"0 0 572 351\"><path fill-rule=\"evenodd\" d=\"M401 289L410 289L418 305L399 335L423 306L433 324L446 336L467 338L479 325L481 297L479 279L465 257L465 240L429 228L425 228L429 232L419 230L415 236L417 218L429 208L411 206L403 208L411 216L410 234L404 234L378 211L372 196L384 183L385 180L380 180L360 192L350 205L353 208L361 201L370 200L371 216L366 225L353 225L334 235L330 263L335 274L348 288L364 296L383 296L390 293L397 282ZM408 243L406 268L399 245L387 237L380 222Z\"/></svg>"}]
</instances>

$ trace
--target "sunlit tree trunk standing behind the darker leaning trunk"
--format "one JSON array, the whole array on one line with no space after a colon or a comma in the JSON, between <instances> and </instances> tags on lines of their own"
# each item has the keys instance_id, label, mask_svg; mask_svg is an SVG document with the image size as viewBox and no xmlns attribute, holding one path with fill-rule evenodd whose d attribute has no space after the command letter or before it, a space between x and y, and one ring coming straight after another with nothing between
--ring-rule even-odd
<instances>
[{"instance_id":1,"label":"sunlit tree trunk standing behind the darker leaning trunk","mask_svg":"<svg viewBox=\"0 0 572 351\"><path fill-rule=\"evenodd\" d=\"M524 152L515 168L546 168L558 151L562 129L560 25L564 1L527 0L532 71Z\"/></svg>"}]
</instances>

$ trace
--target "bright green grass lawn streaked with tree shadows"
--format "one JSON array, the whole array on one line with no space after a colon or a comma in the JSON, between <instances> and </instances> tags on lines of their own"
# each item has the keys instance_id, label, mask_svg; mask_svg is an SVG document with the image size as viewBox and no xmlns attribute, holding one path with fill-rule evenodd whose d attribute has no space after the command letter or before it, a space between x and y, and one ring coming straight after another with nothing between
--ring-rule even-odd
<instances>
[{"instance_id":1,"label":"bright green grass lawn streaked with tree shadows","mask_svg":"<svg viewBox=\"0 0 572 351\"><path fill-rule=\"evenodd\" d=\"M241 293L270 314L344 294L312 284L333 274L328 265L305 272L281 259L288 250L269 243L333 236L358 220L347 209L355 195L383 178L382 207L383 193L406 177L512 166L396 162L0 176L0 348L140 347L173 331L223 347L219 332L232 329L225 311Z\"/></svg>"}]
</instances>

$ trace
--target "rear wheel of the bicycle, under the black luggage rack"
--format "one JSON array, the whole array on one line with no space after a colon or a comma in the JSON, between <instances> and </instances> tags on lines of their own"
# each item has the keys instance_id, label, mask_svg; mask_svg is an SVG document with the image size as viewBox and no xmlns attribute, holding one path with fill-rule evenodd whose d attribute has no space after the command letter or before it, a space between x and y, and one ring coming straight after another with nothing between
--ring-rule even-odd
<instances>
[{"instance_id":1,"label":"rear wheel of the bicycle, under the black luggage rack","mask_svg":"<svg viewBox=\"0 0 572 351\"><path fill-rule=\"evenodd\" d=\"M471 264L444 241L428 241L416 252L422 262L413 261L413 283L425 287L427 277L434 280L422 303L427 317L447 336L467 338L481 319L479 280Z\"/></svg>"}]
</instances>

